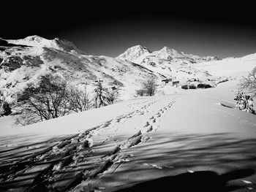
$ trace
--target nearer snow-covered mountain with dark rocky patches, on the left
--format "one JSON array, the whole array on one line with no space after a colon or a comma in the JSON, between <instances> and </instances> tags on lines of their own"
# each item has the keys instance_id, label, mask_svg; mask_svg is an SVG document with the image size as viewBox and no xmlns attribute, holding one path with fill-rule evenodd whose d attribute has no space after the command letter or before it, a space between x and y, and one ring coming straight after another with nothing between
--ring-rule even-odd
<instances>
[{"instance_id":1,"label":"nearer snow-covered mountain with dark rocky patches, on the left","mask_svg":"<svg viewBox=\"0 0 256 192\"><path fill-rule=\"evenodd\" d=\"M134 87L145 77L165 78L130 61L85 55L64 39L0 39L0 88L7 98L46 73L60 74L75 85L86 87L101 79L106 86L123 88L124 92L129 88L135 91Z\"/></svg>"}]
</instances>

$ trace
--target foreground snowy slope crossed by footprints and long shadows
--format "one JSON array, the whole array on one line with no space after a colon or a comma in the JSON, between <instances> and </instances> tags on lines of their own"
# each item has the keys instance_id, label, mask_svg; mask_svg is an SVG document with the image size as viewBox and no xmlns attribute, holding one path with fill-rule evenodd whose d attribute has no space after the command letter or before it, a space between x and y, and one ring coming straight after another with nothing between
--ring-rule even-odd
<instances>
[{"instance_id":1,"label":"foreground snowy slope crossed by footprints and long shadows","mask_svg":"<svg viewBox=\"0 0 256 192\"><path fill-rule=\"evenodd\" d=\"M133 191L129 187L150 180L152 189L198 191L206 180L206 191L223 191L227 180L217 183L216 177L226 173L236 179L233 185L255 189L255 115L219 104L233 104L234 85L132 99L10 128L0 137L0 189ZM234 169L240 172L231 174ZM155 181L184 173L161 185ZM196 185L181 185L191 181Z\"/></svg>"}]
</instances>

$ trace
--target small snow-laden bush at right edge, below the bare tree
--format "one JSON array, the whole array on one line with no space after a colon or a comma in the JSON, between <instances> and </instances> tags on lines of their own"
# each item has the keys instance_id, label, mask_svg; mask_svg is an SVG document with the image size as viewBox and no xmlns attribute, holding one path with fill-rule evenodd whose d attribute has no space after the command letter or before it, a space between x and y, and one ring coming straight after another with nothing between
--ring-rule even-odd
<instances>
[{"instance_id":1,"label":"small snow-laden bush at right edge, below the bare tree","mask_svg":"<svg viewBox=\"0 0 256 192\"><path fill-rule=\"evenodd\" d=\"M236 109L255 114L255 104L250 96L243 92L236 92Z\"/></svg>"}]
</instances>

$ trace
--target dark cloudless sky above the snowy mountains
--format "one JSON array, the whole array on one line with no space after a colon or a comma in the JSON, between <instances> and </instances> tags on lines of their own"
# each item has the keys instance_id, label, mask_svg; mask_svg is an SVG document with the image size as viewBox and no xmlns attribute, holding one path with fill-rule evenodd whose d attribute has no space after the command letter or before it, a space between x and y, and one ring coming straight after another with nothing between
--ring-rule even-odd
<instances>
[{"instance_id":1,"label":"dark cloudless sky above the snowy mountains","mask_svg":"<svg viewBox=\"0 0 256 192\"><path fill-rule=\"evenodd\" d=\"M128 47L167 46L195 55L243 56L256 53L256 26L252 5L232 7L208 1L202 4L165 4L163 1L118 1L111 4L34 1L8 5L2 13L0 37L29 35L73 42L89 55L115 57ZM118 7L114 7L118 4ZM149 4L149 5L148 5ZM217 4L217 5L216 5ZM200 7L199 7L200 5ZM203 4L204 5L204 4ZM244 11L243 11L244 10Z\"/></svg>"}]
</instances>

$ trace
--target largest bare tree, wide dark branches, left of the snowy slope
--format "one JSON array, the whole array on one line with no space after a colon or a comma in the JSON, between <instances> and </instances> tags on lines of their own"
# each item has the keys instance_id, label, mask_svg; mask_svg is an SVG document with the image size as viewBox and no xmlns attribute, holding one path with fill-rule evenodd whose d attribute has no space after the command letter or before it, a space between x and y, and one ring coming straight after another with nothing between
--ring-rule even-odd
<instances>
[{"instance_id":1,"label":"largest bare tree, wide dark branches, left of the snowy slope","mask_svg":"<svg viewBox=\"0 0 256 192\"><path fill-rule=\"evenodd\" d=\"M39 83L29 83L17 94L15 110L20 113L16 123L27 125L70 113L67 81L47 74Z\"/></svg>"}]
</instances>

